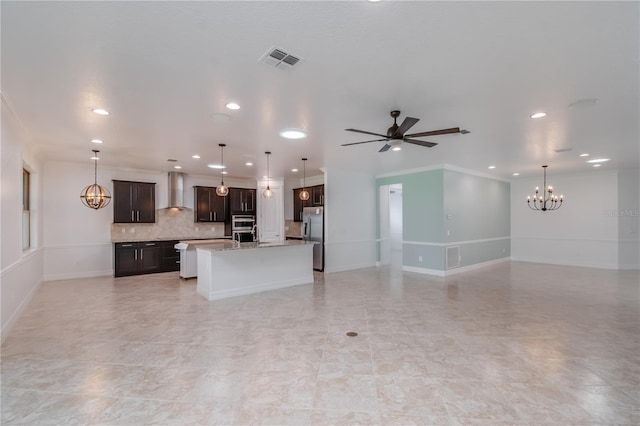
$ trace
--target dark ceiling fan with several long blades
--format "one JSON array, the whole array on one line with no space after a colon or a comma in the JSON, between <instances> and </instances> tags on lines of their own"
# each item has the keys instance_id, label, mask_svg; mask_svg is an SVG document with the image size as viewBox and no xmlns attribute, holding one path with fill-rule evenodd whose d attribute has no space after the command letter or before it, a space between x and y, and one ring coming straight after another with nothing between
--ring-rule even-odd
<instances>
[{"instance_id":1,"label":"dark ceiling fan with several long blades","mask_svg":"<svg viewBox=\"0 0 640 426\"><path fill-rule=\"evenodd\" d=\"M396 119L399 116L400 116L400 111L391 111L391 117L393 117L393 126L387 129L386 135L383 135L380 133L367 132L367 131L358 130L358 129L345 129L348 132L356 132L356 133L364 133L367 135L380 136L382 139L373 139L370 141L345 143L345 144L342 144L342 146L385 141L387 143L382 148L380 148L380 151L378 152L385 152L385 151L388 151L390 148L393 148L394 150L399 150L400 144L402 142L412 143L414 145L420 145L420 146L425 146L427 148L431 148L432 146L436 146L438 144L435 142L419 141L417 139L411 139L411 138L419 138L423 136L448 135L451 133L461 133L465 135L469 133L468 130L464 130L464 129L460 130L459 127L452 127L450 129L432 130L430 132L420 132L420 133L412 133L410 135L405 135L405 132L409 130L414 124L416 124L420 119L413 118L413 117L405 117L402 124L398 126Z\"/></svg>"}]
</instances>

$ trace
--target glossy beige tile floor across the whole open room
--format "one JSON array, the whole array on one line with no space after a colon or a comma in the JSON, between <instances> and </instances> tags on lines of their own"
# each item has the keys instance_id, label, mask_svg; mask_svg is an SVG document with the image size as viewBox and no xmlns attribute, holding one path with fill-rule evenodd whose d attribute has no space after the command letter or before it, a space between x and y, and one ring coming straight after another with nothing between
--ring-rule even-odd
<instances>
[{"instance_id":1,"label":"glossy beige tile floor across the whole open room","mask_svg":"<svg viewBox=\"0 0 640 426\"><path fill-rule=\"evenodd\" d=\"M2 345L1 423L638 425L638 281L383 267L216 302L177 273L48 282Z\"/></svg>"}]
</instances>

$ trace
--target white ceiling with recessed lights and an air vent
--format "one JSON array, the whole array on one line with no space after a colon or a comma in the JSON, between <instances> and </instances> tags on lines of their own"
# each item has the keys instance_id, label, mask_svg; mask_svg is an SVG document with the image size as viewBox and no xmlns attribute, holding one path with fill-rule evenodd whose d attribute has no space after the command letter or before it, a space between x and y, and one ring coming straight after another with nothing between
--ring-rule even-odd
<instances>
[{"instance_id":1,"label":"white ceiling with recessed lights and an air vent","mask_svg":"<svg viewBox=\"0 0 640 426\"><path fill-rule=\"evenodd\" d=\"M597 172L585 152L611 159L600 170L639 165L638 2L0 5L2 94L45 161L88 162L97 148L105 166L217 176L206 164L226 143L228 176L252 179L267 150L271 177L287 179L302 157L309 176L444 163L500 178L543 164ZM260 63L273 46L302 61ZM345 128L386 133L392 109L420 119L408 133L470 133L400 152L340 146L375 139ZM283 139L288 127L308 137Z\"/></svg>"}]
</instances>

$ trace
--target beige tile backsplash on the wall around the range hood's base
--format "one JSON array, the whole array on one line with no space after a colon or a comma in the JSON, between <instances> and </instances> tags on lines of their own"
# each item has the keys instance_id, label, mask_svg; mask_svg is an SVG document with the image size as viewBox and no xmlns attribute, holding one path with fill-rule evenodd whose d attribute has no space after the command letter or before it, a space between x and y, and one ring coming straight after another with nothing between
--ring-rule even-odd
<instances>
[{"instance_id":1,"label":"beige tile backsplash on the wall around the range hood's base","mask_svg":"<svg viewBox=\"0 0 640 426\"><path fill-rule=\"evenodd\" d=\"M191 209L156 210L156 223L112 223L114 243L154 240L192 240L224 236L224 222L193 221Z\"/></svg>"}]
</instances>

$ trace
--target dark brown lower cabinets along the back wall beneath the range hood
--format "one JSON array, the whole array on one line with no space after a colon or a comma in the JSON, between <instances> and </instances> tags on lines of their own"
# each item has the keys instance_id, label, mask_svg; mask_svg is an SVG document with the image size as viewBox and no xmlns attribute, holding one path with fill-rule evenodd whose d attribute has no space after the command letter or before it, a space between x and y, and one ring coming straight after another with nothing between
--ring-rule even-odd
<instances>
[{"instance_id":1,"label":"dark brown lower cabinets along the back wall beneath the range hood","mask_svg":"<svg viewBox=\"0 0 640 426\"><path fill-rule=\"evenodd\" d=\"M173 248L175 243L175 241L143 241L114 244L114 275L124 277L180 270L180 255L176 255L175 249L172 253L168 253L165 248L168 244Z\"/></svg>"}]
</instances>

